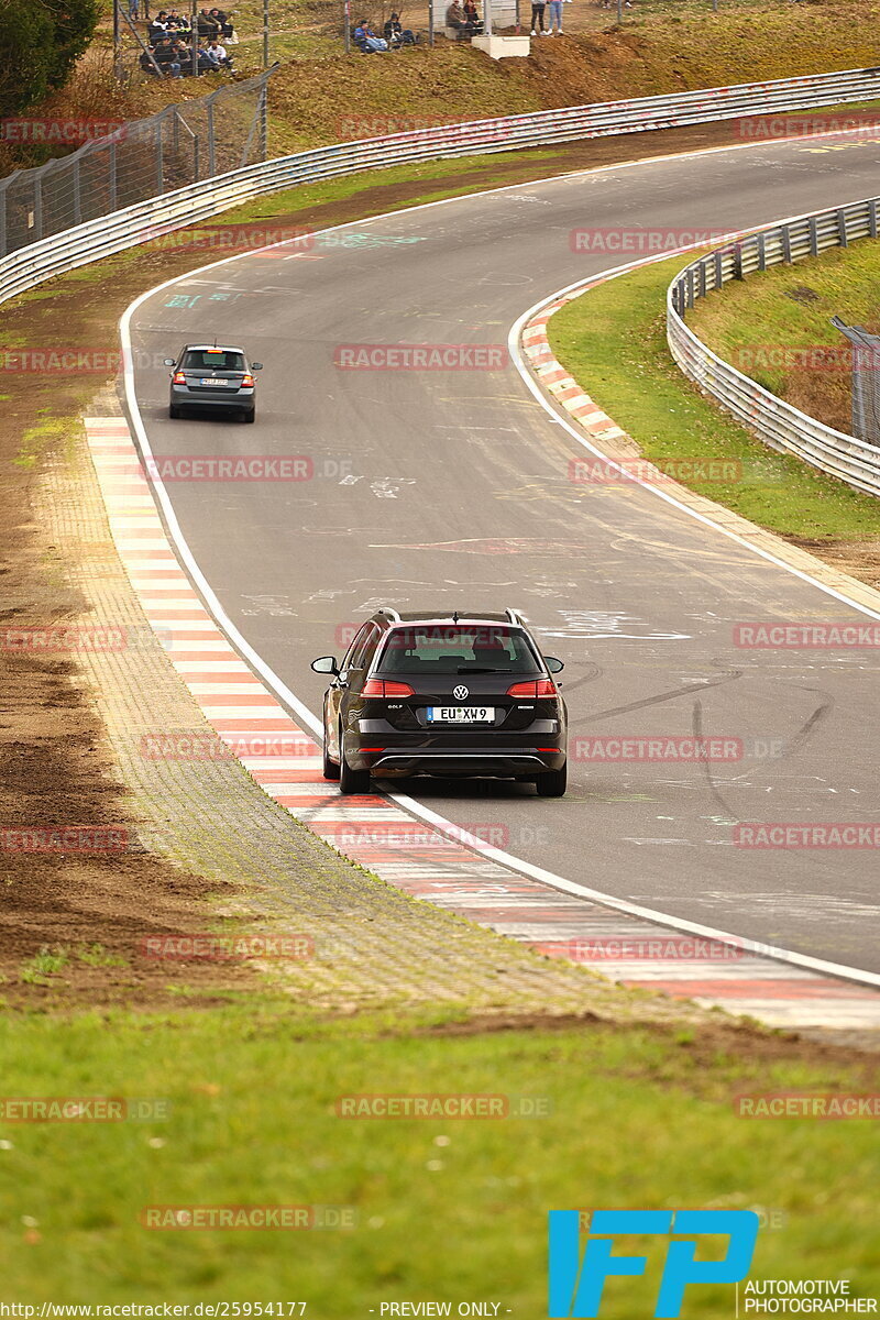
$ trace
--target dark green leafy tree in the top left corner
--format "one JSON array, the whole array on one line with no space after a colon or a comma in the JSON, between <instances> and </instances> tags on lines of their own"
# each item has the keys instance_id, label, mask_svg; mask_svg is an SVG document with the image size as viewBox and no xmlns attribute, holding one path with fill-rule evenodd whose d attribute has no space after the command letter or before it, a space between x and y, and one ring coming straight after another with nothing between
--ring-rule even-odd
<instances>
[{"instance_id":1,"label":"dark green leafy tree in the top left corner","mask_svg":"<svg viewBox=\"0 0 880 1320\"><path fill-rule=\"evenodd\" d=\"M0 116L63 87L98 18L98 0L0 0Z\"/></svg>"}]
</instances>

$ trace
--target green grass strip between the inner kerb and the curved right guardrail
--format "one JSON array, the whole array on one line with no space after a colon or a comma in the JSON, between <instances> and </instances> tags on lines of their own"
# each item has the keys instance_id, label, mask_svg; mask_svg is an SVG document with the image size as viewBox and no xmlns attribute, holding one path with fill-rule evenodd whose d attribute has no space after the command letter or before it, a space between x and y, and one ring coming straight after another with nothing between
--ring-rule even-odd
<instances>
[{"instance_id":1,"label":"green grass strip between the inner kerb and the curved right guardrail","mask_svg":"<svg viewBox=\"0 0 880 1320\"><path fill-rule=\"evenodd\" d=\"M653 463L732 461L731 482L685 482L699 495L794 541L880 536L876 500L767 449L679 372L665 304L682 265L676 257L643 267L569 302L549 322L559 362Z\"/></svg>"}]
</instances>

